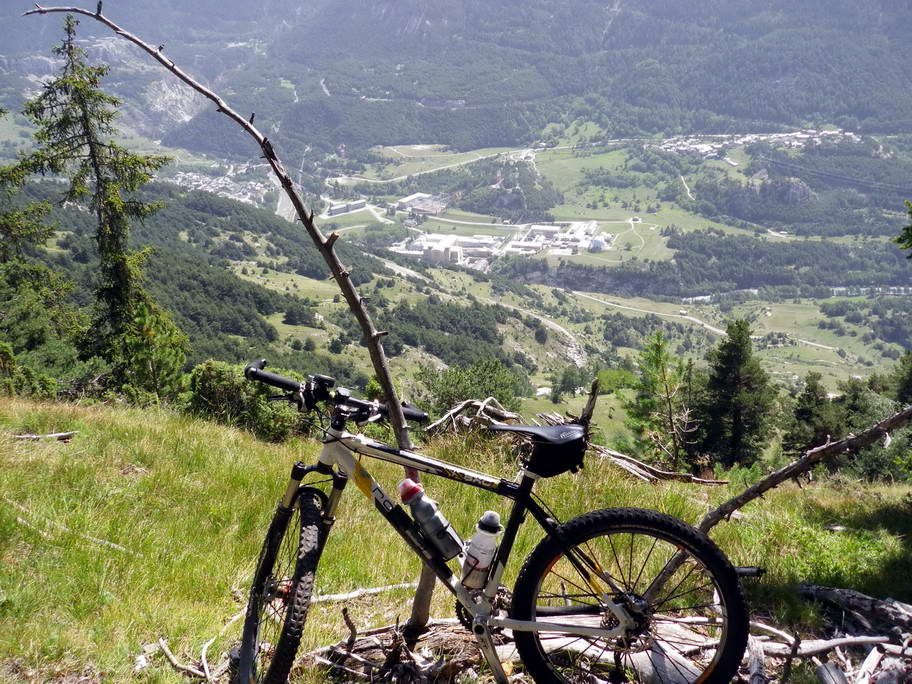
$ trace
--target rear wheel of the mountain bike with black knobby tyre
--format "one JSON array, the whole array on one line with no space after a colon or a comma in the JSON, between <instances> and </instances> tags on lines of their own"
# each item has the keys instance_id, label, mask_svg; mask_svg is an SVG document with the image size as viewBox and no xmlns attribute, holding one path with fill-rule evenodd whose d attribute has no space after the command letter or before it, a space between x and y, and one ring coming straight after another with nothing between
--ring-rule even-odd
<instances>
[{"instance_id":1,"label":"rear wheel of the mountain bike with black knobby tyre","mask_svg":"<svg viewBox=\"0 0 912 684\"><path fill-rule=\"evenodd\" d=\"M612 604L629 616L622 629ZM747 645L747 608L728 559L694 528L635 508L587 513L544 539L520 571L511 612L562 627L514 631L540 684L728 684Z\"/></svg>"}]
</instances>

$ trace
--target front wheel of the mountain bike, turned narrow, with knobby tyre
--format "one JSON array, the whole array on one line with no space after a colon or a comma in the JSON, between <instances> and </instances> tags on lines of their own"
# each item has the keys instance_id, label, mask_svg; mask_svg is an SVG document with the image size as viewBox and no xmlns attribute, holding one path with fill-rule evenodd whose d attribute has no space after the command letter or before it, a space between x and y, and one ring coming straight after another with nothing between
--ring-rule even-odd
<instances>
[{"instance_id":1,"label":"front wheel of the mountain bike, turned narrow, with knobby tyre","mask_svg":"<svg viewBox=\"0 0 912 684\"><path fill-rule=\"evenodd\" d=\"M273 517L250 589L236 682L288 681L323 548L322 510L319 493L302 489L291 509Z\"/></svg>"}]
</instances>

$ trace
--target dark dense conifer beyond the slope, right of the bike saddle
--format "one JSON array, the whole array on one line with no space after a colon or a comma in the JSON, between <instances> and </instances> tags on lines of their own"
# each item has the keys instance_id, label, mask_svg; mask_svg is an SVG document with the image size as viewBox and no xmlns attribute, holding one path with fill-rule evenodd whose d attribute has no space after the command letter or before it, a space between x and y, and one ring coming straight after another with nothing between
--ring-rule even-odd
<instances>
[{"instance_id":1,"label":"dark dense conifer beyond the slope, right of the bike saddle","mask_svg":"<svg viewBox=\"0 0 912 684\"><path fill-rule=\"evenodd\" d=\"M726 339L708 355L703 446L731 467L750 464L762 452L775 391L753 356L747 321L734 321L725 332Z\"/></svg>"}]
</instances>

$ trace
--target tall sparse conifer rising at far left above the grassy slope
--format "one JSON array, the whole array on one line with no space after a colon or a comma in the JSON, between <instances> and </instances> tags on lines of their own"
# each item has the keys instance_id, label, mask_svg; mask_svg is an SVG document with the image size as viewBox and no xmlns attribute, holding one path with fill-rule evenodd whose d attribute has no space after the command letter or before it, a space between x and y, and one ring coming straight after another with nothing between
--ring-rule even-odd
<instances>
[{"instance_id":1,"label":"tall sparse conifer rising at far left above the grassy slope","mask_svg":"<svg viewBox=\"0 0 912 684\"><path fill-rule=\"evenodd\" d=\"M138 200L135 193L167 158L134 154L113 141L120 103L101 90L108 67L90 66L85 51L77 45L78 23L66 18L64 39L54 49L63 59L63 67L38 97L26 103L25 113L37 126L38 148L23 164L33 172L65 175L69 186L64 199L88 201L95 214L100 258L98 310L93 322L96 343L87 353L97 353L112 364L118 386L160 395L173 387L187 339L143 287L148 250L130 251L128 241L130 221L142 220L158 209ZM161 345L144 348L138 344L149 340L153 329L151 337L169 340L167 352ZM160 353L153 364L157 370L152 372L149 352L156 349Z\"/></svg>"}]
</instances>

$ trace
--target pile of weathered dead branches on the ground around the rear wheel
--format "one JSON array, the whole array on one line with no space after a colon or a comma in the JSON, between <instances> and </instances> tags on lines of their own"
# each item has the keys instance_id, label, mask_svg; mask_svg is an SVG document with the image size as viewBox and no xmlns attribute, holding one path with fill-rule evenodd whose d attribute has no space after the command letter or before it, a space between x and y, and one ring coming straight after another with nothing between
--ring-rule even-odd
<instances>
[{"instance_id":1,"label":"pile of weathered dead branches on the ground around the rear wheel","mask_svg":"<svg viewBox=\"0 0 912 684\"><path fill-rule=\"evenodd\" d=\"M837 618L831 636L802 640L759 621L751 622L741 665L748 684L791 681L796 661L810 661L822 684L900 684L912 681L912 606L858 592L804 585L802 596L825 603ZM456 619L432 620L417 642L398 624L358 634L343 608L349 637L308 653L299 668L322 669L342 681L407 684L475 681L484 666L472 634ZM869 632L876 632L870 634ZM505 671L521 668L509 632L496 636ZM531 681L516 674L513 682ZM659 682L646 682L659 684Z\"/></svg>"}]
</instances>

